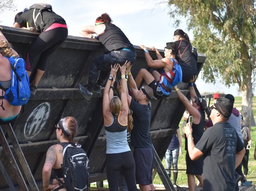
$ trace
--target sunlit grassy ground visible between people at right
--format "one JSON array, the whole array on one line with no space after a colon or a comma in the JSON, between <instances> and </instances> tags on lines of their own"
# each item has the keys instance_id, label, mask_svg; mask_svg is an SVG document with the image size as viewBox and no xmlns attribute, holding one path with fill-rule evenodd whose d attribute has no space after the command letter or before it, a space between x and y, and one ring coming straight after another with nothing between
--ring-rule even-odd
<instances>
[{"instance_id":1,"label":"sunlit grassy ground visible between people at right","mask_svg":"<svg viewBox=\"0 0 256 191\"><path fill-rule=\"evenodd\" d=\"M234 107L237 107L238 109L241 108L241 97L235 97L235 105ZM253 97L253 103L256 103L256 97ZM212 104L211 104L212 105ZM256 107L256 106L254 106ZM254 118L256 117L256 109L253 108ZM180 126L182 124L182 121L180 123ZM182 134L181 128L180 132ZM252 147L250 149L250 155L249 155L249 162L248 162L248 175L247 180L252 181L253 184L256 184L256 160L254 159L254 147L256 143L256 127L251 127L251 136L252 136ZM186 169L186 162L185 162L185 139L181 138L182 140L182 155L179 157L178 161L178 169ZM165 159L162 161L163 165L165 166ZM171 181L173 182L173 174L171 173ZM159 178L158 174L156 174L154 181L154 184L162 184L161 179ZM186 171L179 171L178 178L177 178L177 185L187 185L187 175Z\"/></svg>"}]
</instances>

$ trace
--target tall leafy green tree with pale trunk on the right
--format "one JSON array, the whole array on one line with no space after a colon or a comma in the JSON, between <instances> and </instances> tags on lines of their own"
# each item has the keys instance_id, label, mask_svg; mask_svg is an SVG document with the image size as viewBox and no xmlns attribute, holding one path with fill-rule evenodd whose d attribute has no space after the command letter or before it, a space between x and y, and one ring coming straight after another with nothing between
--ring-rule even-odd
<instances>
[{"instance_id":1,"label":"tall leafy green tree with pale trunk on the right","mask_svg":"<svg viewBox=\"0 0 256 191\"><path fill-rule=\"evenodd\" d=\"M250 126L256 62L254 0L169 0L170 15L193 30L193 45L207 56L203 80L237 83L242 92L242 114Z\"/></svg>"}]
</instances>

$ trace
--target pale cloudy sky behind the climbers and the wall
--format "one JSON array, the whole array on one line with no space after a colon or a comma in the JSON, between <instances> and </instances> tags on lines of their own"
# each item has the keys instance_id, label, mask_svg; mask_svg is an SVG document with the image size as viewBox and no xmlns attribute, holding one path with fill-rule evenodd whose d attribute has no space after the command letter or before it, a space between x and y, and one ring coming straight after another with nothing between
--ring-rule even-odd
<instances>
[{"instance_id":1,"label":"pale cloudy sky behind the climbers and the wall","mask_svg":"<svg viewBox=\"0 0 256 191\"><path fill-rule=\"evenodd\" d=\"M6 10L0 14L0 25L12 26L17 12L41 2L51 4L53 11L65 19L69 35L72 36L81 36L79 29L82 26L94 25L95 19L105 12L134 45L144 44L147 47L163 49L166 42L173 41L173 33L177 29L168 14L167 4L160 3L161 0L14 0L17 11ZM193 34L187 31L185 20L179 28L193 39ZM223 86L221 79L213 85L203 82L199 76L196 84L201 94L220 92L241 95L238 85L227 88Z\"/></svg>"}]
</instances>

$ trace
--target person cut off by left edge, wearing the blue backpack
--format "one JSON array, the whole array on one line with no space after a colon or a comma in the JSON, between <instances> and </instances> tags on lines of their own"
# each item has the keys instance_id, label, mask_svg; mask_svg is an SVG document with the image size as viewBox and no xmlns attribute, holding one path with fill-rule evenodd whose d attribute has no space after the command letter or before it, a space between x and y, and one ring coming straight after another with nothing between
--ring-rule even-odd
<instances>
[{"instance_id":1,"label":"person cut off by left edge, wearing the blue backpack","mask_svg":"<svg viewBox=\"0 0 256 191\"><path fill-rule=\"evenodd\" d=\"M4 99L5 91L11 85L11 65L10 61L5 58L14 56L17 57L18 53L12 49L7 39L0 31L0 83L3 90L0 89L0 125L8 124L14 121L21 110L21 105L10 105L7 99Z\"/></svg>"}]
</instances>

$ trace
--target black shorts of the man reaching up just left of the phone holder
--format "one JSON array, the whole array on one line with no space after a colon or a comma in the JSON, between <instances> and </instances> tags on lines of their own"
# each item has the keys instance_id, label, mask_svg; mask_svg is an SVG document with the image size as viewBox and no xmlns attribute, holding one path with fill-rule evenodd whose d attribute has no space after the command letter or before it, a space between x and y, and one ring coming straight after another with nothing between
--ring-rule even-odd
<instances>
[{"instance_id":1,"label":"black shorts of the man reaching up just left of the phone holder","mask_svg":"<svg viewBox=\"0 0 256 191\"><path fill-rule=\"evenodd\" d=\"M197 159L196 161L192 161L189 157L189 152L187 151L186 165L187 165L186 174L191 174L191 175L203 174L203 156Z\"/></svg>"}]
</instances>

